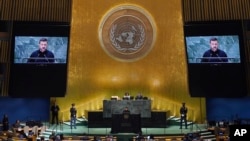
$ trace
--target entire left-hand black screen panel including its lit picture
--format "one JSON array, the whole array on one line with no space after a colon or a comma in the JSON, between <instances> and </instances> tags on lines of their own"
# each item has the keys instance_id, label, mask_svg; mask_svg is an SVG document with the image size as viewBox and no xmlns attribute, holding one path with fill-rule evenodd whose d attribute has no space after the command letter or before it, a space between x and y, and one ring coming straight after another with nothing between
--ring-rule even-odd
<instances>
[{"instance_id":1,"label":"entire left-hand black screen panel including its lit picture","mask_svg":"<svg viewBox=\"0 0 250 141\"><path fill-rule=\"evenodd\" d=\"M70 23L15 21L11 39L9 95L65 96Z\"/></svg>"}]
</instances>

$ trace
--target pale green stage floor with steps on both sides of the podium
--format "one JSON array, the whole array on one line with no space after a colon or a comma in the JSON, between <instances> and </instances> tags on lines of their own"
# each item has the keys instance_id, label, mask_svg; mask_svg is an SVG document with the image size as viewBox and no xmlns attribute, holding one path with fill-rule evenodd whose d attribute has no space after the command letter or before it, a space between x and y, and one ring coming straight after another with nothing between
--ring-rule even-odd
<instances>
[{"instance_id":1,"label":"pale green stage floor with steps on both sides of the podium","mask_svg":"<svg viewBox=\"0 0 250 141\"><path fill-rule=\"evenodd\" d=\"M164 137L164 136L182 136L187 133L197 133L203 132L204 138L209 138L212 141L215 141L215 136L208 130L207 125L205 124L192 124L188 126L188 129L179 129L180 127L177 125L167 126L166 128L141 128L143 136L154 135L155 137ZM111 128L88 128L87 125L77 125L76 129L70 129L68 124L61 125L50 125L40 136L45 137L45 139L49 138L49 135L55 131L57 134L63 134L64 136L108 136L111 135L113 137L117 137L118 141L128 141L131 138L136 137L138 134L136 133L110 133ZM207 134L208 133L208 134ZM39 139L40 137L38 137Z\"/></svg>"}]
</instances>

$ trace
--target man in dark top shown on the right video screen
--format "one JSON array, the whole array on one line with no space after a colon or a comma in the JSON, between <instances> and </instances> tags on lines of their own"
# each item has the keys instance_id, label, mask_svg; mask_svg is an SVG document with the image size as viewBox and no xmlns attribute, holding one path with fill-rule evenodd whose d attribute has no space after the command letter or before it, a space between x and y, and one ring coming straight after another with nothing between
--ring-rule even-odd
<instances>
[{"instance_id":1,"label":"man in dark top shown on the right video screen","mask_svg":"<svg viewBox=\"0 0 250 141\"><path fill-rule=\"evenodd\" d=\"M228 62L227 54L225 51L219 49L218 39L213 37L210 39L210 49L204 52L202 63L206 62Z\"/></svg>"}]
</instances>

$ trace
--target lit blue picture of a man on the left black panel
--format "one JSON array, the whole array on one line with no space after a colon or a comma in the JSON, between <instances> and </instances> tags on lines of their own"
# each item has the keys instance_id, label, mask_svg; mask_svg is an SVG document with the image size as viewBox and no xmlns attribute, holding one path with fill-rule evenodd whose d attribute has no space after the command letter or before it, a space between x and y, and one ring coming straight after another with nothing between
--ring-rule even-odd
<instances>
[{"instance_id":1,"label":"lit blue picture of a man on the left black panel","mask_svg":"<svg viewBox=\"0 0 250 141\"><path fill-rule=\"evenodd\" d=\"M66 63L68 37L15 36L14 63Z\"/></svg>"}]
</instances>

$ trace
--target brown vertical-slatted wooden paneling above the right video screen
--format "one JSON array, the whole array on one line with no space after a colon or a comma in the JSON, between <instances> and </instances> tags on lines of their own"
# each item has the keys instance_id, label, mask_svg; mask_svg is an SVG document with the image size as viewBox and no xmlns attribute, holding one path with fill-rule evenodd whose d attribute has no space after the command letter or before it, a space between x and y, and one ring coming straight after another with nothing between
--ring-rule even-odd
<instances>
[{"instance_id":1,"label":"brown vertical-slatted wooden paneling above the right video screen","mask_svg":"<svg viewBox=\"0 0 250 141\"><path fill-rule=\"evenodd\" d=\"M250 18L249 0L182 0L184 22Z\"/></svg>"}]
</instances>

